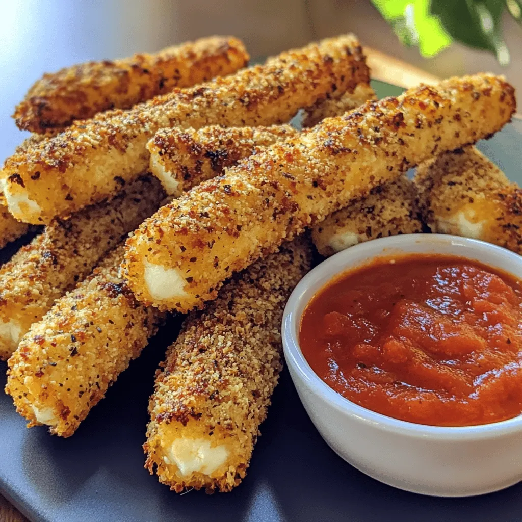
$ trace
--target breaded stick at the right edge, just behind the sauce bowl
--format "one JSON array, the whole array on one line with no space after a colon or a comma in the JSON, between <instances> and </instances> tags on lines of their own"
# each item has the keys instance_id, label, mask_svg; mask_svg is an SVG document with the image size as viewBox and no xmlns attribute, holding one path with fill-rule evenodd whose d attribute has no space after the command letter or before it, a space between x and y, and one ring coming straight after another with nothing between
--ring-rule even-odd
<instances>
[{"instance_id":1,"label":"breaded stick at the right edge, just behind the sauce bowl","mask_svg":"<svg viewBox=\"0 0 522 522\"><path fill-rule=\"evenodd\" d=\"M432 232L481 239L522 254L522 189L476 148L419 165L414 181Z\"/></svg>"}]
</instances>

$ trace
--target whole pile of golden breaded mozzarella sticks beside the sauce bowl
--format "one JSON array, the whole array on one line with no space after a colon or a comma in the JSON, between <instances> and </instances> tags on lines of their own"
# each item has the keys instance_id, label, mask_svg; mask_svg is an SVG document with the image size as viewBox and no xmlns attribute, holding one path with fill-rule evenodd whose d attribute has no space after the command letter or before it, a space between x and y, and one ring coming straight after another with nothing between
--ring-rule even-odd
<instances>
[{"instance_id":1,"label":"whole pile of golden breaded mozzarella sticks beside the sauce bowl","mask_svg":"<svg viewBox=\"0 0 522 522\"><path fill-rule=\"evenodd\" d=\"M44 225L0 268L6 392L29 427L73 435L188 314L144 444L176 492L245 477L312 243L329 256L431 229L522 250L520 189L473 147L515 112L502 77L377 101L353 35L248 59L211 37L45 75L14 115L33 134L0 173L2 246Z\"/></svg>"}]
</instances>

